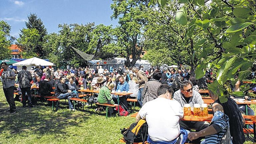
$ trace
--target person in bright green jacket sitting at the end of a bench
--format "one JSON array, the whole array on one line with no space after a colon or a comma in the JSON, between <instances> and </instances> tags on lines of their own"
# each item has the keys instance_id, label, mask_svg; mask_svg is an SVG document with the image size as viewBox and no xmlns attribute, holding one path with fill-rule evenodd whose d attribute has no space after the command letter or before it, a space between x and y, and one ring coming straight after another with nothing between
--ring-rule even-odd
<instances>
[{"instance_id":1,"label":"person in bright green jacket sitting at the end of a bench","mask_svg":"<svg viewBox=\"0 0 256 144\"><path fill-rule=\"evenodd\" d=\"M117 105L115 104L114 101L112 100L112 96L111 96L111 90L114 88L114 84L112 82L108 82L105 86L103 86L100 89L100 93L98 95L98 102L100 104L112 104L112 105ZM109 113L110 115L112 115L113 113L113 108L109 107Z\"/></svg>"}]
</instances>

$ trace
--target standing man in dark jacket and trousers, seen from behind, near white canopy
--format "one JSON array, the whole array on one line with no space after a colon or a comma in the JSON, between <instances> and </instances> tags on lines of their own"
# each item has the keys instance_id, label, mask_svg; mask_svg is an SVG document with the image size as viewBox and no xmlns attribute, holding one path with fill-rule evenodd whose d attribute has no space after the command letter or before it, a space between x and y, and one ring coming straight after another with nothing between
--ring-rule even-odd
<instances>
[{"instance_id":1,"label":"standing man in dark jacket and trousers, seen from behind, near white canopy","mask_svg":"<svg viewBox=\"0 0 256 144\"><path fill-rule=\"evenodd\" d=\"M26 93L28 95L28 106L29 107L33 107L32 106L32 101L31 101L31 84L30 82L32 81L32 76L30 74L29 71L27 71L27 67L26 66L22 66L22 70L19 72L18 74L18 81L20 84L20 89L21 89L21 95L22 95L22 104L23 104L23 108L26 107Z\"/></svg>"}]
</instances>

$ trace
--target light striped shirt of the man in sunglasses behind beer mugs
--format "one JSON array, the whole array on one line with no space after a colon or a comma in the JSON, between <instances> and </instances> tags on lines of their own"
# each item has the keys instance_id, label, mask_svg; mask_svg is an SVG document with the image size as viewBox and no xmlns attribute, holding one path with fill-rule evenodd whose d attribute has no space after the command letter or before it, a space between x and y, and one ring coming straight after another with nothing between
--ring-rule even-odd
<instances>
[{"instance_id":1,"label":"light striped shirt of the man in sunglasses behind beer mugs","mask_svg":"<svg viewBox=\"0 0 256 144\"><path fill-rule=\"evenodd\" d=\"M178 101L183 107L185 104L190 104L191 107L194 107L194 104L202 104L204 103L202 96L197 91L193 90L193 96L190 97L189 102L187 103L184 95L181 93L181 90L178 90L174 93L173 99Z\"/></svg>"}]
</instances>

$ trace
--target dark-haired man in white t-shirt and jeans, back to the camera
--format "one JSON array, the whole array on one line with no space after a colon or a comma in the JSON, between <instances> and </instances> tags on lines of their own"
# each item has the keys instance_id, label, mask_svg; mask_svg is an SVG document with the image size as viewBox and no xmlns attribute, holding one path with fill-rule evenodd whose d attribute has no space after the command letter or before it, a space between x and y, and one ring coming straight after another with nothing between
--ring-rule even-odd
<instances>
[{"instance_id":1,"label":"dark-haired man in white t-shirt and jeans, back to the camera","mask_svg":"<svg viewBox=\"0 0 256 144\"><path fill-rule=\"evenodd\" d=\"M136 116L136 122L146 119L148 124L148 139L151 144L163 142L185 143L189 131L179 125L183 117L183 108L172 100L173 89L162 84L157 89L158 98L145 103Z\"/></svg>"}]
</instances>

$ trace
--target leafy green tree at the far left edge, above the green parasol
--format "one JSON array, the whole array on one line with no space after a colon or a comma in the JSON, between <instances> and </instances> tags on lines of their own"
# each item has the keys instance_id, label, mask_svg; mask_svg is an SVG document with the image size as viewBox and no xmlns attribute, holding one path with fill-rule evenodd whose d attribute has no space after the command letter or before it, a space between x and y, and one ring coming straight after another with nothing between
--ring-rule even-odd
<instances>
[{"instance_id":1,"label":"leafy green tree at the far left edge, above the green parasol","mask_svg":"<svg viewBox=\"0 0 256 144\"><path fill-rule=\"evenodd\" d=\"M0 59L11 58L11 41L10 35L11 26L5 22L0 21Z\"/></svg>"}]
</instances>

